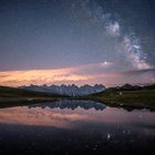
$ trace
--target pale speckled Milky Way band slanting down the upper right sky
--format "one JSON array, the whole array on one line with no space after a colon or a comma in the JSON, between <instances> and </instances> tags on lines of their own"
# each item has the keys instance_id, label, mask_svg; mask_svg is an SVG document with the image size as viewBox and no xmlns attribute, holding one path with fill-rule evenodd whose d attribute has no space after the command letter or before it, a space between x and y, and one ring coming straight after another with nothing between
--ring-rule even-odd
<instances>
[{"instance_id":1,"label":"pale speckled Milky Way band slanting down the upper right sky","mask_svg":"<svg viewBox=\"0 0 155 155\"><path fill-rule=\"evenodd\" d=\"M86 12L85 14L90 16L87 17L90 18L90 24L92 24L93 22L93 24L96 24L96 27L101 25L101 28L103 29L101 31L104 31L104 33L107 33L105 34L104 38L107 38L108 35L108 38L112 38L115 40L116 44L113 44L113 42L111 44L113 45L114 49L113 50L111 49L111 51L108 51L111 52L112 58L115 54L122 54L124 56L123 59L126 59L126 61L134 69L145 70L145 69L152 68L149 63L146 61L146 58L147 58L146 53L144 53L141 49L140 39L136 37L136 34L134 34L133 31L128 33L123 33L117 19L114 19L111 12L105 12L103 8L97 2L94 2L93 0L87 0L87 1L81 0L79 1L79 4L81 6L81 8L83 7L83 9L85 9L85 12ZM75 4L74 4L74 8L75 8Z\"/></svg>"}]
</instances>

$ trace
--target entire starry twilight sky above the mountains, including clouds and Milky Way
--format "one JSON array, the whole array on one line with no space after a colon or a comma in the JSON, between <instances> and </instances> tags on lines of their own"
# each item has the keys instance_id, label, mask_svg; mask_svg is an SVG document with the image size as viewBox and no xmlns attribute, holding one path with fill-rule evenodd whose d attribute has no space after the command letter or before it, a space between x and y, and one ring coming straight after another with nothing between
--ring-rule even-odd
<instances>
[{"instance_id":1,"label":"entire starry twilight sky above the mountains, including clouds and Milky Way","mask_svg":"<svg viewBox=\"0 0 155 155\"><path fill-rule=\"evenodd\" d=\"M0 85L155 83L154 0L0 0Z\"/></svg>"}]
</instances>

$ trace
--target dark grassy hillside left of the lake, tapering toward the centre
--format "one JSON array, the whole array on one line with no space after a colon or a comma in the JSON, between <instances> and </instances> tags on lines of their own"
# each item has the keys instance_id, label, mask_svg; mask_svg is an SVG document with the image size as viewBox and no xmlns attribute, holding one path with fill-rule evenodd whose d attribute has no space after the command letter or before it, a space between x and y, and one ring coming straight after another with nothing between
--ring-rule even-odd
<instances>
[{"instance_id":1,"label":"dark grassy hillside left of the lake, tapering toward the centre","mask_svg":"<svg viewBox=\"0 0 155 155\"><path fill-rule=\"evenodd\" d=\"M22 103L27 102L54 101L61 97L63 96L52 93L0 86L0 107L11 106L14 104L22 105Z\"/></svg>"}]
</instances>

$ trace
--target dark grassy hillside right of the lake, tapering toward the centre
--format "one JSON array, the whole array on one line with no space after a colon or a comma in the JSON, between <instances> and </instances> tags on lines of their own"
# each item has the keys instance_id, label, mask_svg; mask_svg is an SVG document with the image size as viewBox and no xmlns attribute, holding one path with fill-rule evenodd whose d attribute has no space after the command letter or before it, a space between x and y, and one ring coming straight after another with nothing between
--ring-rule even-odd
<instances>
[{"instance_id":1,"label":"dark grassy hillside right of the lake, tapering toward the centre","mask_svg":"<svg viewBox=\"0 0 155 155\"><path fill-rule=\"evenodd\" d=\"M89 95L111 105L155 107L155 84L147 86L110 87L101 93Z\"/></svg>"}]
</instances>

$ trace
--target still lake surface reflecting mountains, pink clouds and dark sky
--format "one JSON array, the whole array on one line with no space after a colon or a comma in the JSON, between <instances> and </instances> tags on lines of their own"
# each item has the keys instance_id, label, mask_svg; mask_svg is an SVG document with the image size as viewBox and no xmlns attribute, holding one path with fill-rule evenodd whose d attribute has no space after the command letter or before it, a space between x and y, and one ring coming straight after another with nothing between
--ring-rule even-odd
<instances>
[{"instance_id":1,"label":"still lake surface reflecting mountains, pink clouds and dark sky","mask_svg":"<svg viewBox=\"0 0 155 155\"><path fill-rule=\"evenodd\" d=\"M93 101L0 108L0 154L154 154L155 113Z\"/></svg>"}]
</instances>

